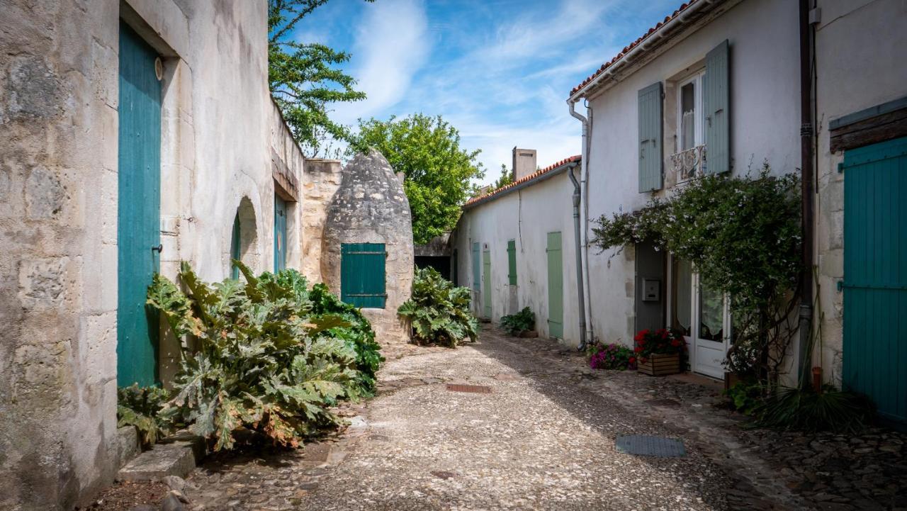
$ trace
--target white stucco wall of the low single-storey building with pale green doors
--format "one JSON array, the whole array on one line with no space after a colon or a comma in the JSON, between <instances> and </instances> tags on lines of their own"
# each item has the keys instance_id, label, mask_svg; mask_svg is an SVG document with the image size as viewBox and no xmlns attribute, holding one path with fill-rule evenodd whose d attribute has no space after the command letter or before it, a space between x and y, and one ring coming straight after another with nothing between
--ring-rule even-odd
<instances>
[{"instance_id":1,"label":"white stucco wall of the low single-storey building with pale green doors","mask_svg":"<svg viewBox=\"0 0 907 511\"><path fill-rule=\"evenodd\" d=\"M574 171L579 174L579 169ZM576 287L576 251L573 235L573 185L566 173L537 182L463 211L454 231L457 276L461 286L473 288L473 242L488 243L492 259L492 317L523 307L535 312L539 335L548 336L548 233L561 231L563 258L563 339L580 341ZM511 310L507 241L516 241L517 294ZM482 262L482 254L479 258ZM473 311L482 316L483 290L473 290Z\"/></svg>"}]
</instances>

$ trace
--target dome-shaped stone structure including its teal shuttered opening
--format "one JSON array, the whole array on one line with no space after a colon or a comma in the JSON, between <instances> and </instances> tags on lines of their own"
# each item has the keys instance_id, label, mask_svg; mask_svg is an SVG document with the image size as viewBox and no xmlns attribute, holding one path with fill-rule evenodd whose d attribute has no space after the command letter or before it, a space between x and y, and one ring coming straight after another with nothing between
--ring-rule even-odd
<instances>
[{"instance_id":1,"label":"dome-shaped stone structure including its teal shuttered opening","mask_svg":"<svg viewBox=\"0 0 907 511\"><path fill-rule=\"evenodd\" d=\"M327 287L362 307L379 342L408 341L396 311L413 290L413 221L403 183L380 152L346 164L321 243Z\"/></svg>"}]
</instances>

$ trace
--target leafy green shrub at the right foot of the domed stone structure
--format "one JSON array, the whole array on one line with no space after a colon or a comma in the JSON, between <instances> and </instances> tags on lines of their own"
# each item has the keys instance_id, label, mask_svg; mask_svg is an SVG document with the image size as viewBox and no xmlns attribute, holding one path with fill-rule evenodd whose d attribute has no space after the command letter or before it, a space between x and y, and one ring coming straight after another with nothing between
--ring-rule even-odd
<instances>
[{"instance_id":1,"label":"leafy green shrub at the right foot of the domed stone structure","mask_svg":"<svg viewBox=\"0 0 907 511\"><path fill-rule=\"evenodd\" d=\"M478 336L479 322L469 311L470 293L434 268L422 268L415 271L413 297L400 305L397 314L413 322L417 344L454 348L463 339L474 341Z\"/></svg>"}]
</instances>

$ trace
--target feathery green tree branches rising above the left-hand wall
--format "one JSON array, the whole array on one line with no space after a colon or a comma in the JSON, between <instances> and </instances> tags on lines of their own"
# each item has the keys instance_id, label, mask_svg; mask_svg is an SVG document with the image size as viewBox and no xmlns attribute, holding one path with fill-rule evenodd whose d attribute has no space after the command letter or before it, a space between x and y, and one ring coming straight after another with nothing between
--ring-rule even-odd
<instances>
[{"instance_id":1,"label":"feathery green tree branches rising above the left-hand wall","mask_svg":"<svg viewBox=\"0 0 907 511\"><path fill-rule=\"evenodd\" d=\"M371 2L372 0L366 0ZM330 119L328 103L366 99L356 80L336 68L349 54L292 40L294 28L327 0L268 0L268 84L293 137L307 156L350 140L350 127Z\"/></svg>"}]
</instances>

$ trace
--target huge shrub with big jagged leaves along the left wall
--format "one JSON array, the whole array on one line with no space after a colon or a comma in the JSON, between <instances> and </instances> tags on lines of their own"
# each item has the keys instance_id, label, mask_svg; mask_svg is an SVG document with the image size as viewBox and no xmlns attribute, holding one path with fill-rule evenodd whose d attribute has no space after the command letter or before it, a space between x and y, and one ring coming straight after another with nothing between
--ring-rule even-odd
<instances>
[{"instance_id":1,"label":"huge shrub with big jagged leaves along the left wall","mask_svg":"<svg viewBox=\"0 0 907 511\"><path fill-rule=\"evenodd\" d=\"M339 423L328 409L337 399L370 391L375 334L364 318L347 321L345 315L356 317L350 310L315 313L334 306L313 303L295 270L255 277L241 262L234 264L245 284L207 284L185 262L185 294L171 280L154 277L149 305L161 310L178 338L190 336L198 345L183 351L163 411L174 424L208 438L214 450L234 447L241 429L296 447ZM330 302L325 292L315 297Z\"/></svg>"}]
</instances>

